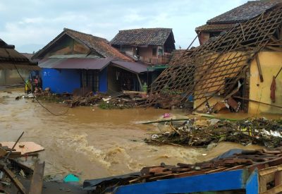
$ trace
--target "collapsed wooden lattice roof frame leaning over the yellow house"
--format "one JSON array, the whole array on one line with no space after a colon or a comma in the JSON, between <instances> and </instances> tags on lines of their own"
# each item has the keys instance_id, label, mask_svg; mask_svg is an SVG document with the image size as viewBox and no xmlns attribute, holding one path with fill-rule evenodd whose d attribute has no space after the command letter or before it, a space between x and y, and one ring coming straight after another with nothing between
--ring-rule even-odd
<instances>
[{"instance_id":1,"label":"collapsed wooden lattice roof frame leaning over the yellow house","mask_svg":"<svg viewBox=\"0 0 282 194\"><path fill-rule=\"evenodd\" d=\"M152 83L151 92L174 92L183 99L193 95L204 99L232 90L262 49L281 51L282 4L222 33L219 37L186 50L183 56L169 66ZM228 80L224 87L226 78ZM152 104L157 95L149 99Z\"/></svg>"}]
</instances>

